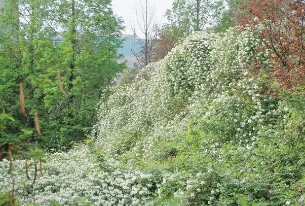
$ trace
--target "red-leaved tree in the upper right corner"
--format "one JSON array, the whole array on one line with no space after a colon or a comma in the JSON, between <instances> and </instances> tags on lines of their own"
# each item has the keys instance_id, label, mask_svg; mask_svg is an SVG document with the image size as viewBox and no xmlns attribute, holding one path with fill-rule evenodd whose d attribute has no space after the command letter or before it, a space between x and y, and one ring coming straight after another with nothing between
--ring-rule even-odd
<instances>
[{"instance_id":1,"label":"red-leaved tree in the upper right corner","mask_svg":"<svg viewBox=\"0 0 305 206\"><path fill-rule=\"evenodd\" d=\"M305 83L305 1L247 0L238 18L273 52L273 76L285 89Z\"/></svg>"}]
</instances>

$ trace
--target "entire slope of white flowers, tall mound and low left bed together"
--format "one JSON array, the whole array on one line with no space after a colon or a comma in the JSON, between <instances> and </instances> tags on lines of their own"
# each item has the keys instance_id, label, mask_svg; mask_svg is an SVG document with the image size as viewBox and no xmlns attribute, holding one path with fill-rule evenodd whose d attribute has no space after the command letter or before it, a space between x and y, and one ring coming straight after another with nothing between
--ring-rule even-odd
<instances>
[{"instance_id":1,"label":"entire slope of white flowers, tall mound and low left bed together","mask_svg":"<svg viewBox=\"0 0 305 206\"><path fill-rule=\"evenodd\" d=\"M20 201L42 204L304 204L305 98L277 89L269 55L236 28L188 37L103 92L94 143L49 157L33 186L23 160L13 174L3 161L0 190L16 179Z\"/></svg>"}]
</instances>

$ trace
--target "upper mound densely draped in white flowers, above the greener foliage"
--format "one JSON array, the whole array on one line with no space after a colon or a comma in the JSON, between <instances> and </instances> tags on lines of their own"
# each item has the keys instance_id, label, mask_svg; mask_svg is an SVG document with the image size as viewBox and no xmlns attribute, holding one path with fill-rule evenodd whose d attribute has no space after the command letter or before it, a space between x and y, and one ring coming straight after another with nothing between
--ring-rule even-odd
<instances>
[{"instance_id":1,"label":"upper mound densely draped in white flowers, above the greener foliage","mask_svg":"<svg viewBox=\"0 0 305 206\"><path fill-rule=\"evenodd\" d=\"M164 60L143 68L133 83L105 91L93 131L98 144L109 153L134 150L150 156L158 141L175 139L189 119L223 115L227 131L222 131L222 138L243 141L246 135L255 139L255 128L243 131L262 121L267 105L263 101L272 101L262 97L261 91L268 85L247 72L260 46L252 33L236 29L224 37L209 33L188 37ZM256 61L269 70L272 62L266 55L267 50ZM249 111L228 110L232 108ZM233 131L232 136L232 129L240 132Z\"/></svg>"}]
</instances>

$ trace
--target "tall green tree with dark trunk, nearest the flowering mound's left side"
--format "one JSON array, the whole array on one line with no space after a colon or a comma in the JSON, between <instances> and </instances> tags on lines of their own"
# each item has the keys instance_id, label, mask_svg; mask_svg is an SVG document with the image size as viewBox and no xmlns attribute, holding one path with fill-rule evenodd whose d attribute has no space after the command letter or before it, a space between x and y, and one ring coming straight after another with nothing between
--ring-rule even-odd
<instances>
[{"instance_id":1,"label":"tall green tree with dark trunk, nearest the flowering mound's left side","mask_svg":"<svg viewBox=\"0 0 305 206\"><path fill-rule=\"evenodd\" d=\"M123 26L109 0L50 3L53 15L48 24L60 40L55 67L61 71L66 94L59 92L57 82L48 89L45 100L51 121L45 127L50 127L49 145L58 148L83 140L95 124L103 87L125 67L117 62Z\"/></svg>"}]
</instances>

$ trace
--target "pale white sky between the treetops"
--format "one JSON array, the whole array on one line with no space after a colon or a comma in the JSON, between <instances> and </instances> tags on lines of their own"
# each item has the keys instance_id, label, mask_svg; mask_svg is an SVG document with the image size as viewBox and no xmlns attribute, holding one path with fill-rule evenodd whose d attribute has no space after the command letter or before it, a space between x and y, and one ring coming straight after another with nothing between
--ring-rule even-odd
<instances>
[{"instance_id":1,"label":"pale white sky between the treetops","mask_svg":"<svg viewBox=\"0 0 305 206\"><path fill-rule=\"evenodd\" d=\"M118 16L121 16L124 20L124 24L126 26L124 35L132 35L132 24L136 16L135 9L140 8L140 1L143 2L145 0L112 0L112 8L113 12ZM164 18L165 12L167 9L171 8L173 0L148 0L149 5L155 7L155 22L158 24L162 24L166 22ZM139 30L137 25L135 26L136 30ZM139 33L140 35L140 33Z\"/></svg>"}]
</instances>

